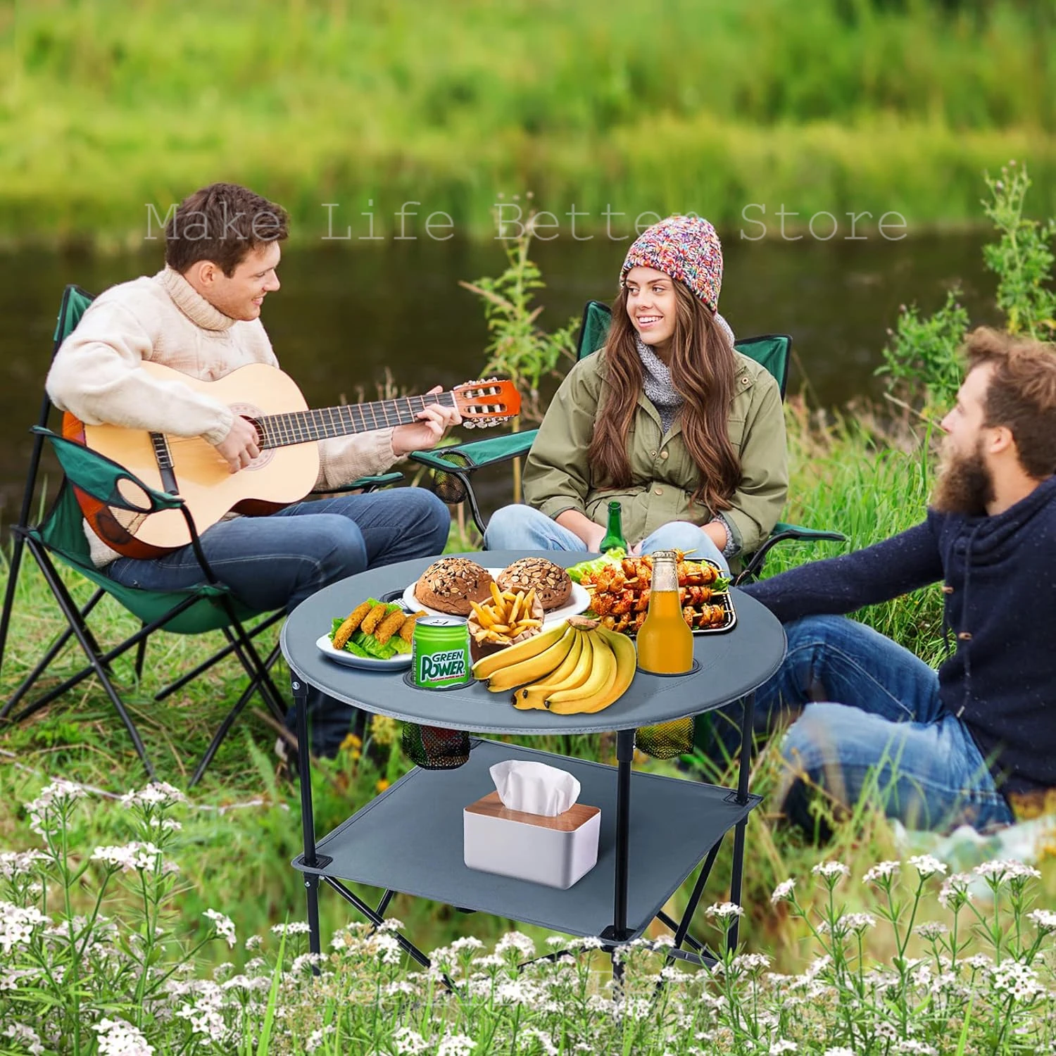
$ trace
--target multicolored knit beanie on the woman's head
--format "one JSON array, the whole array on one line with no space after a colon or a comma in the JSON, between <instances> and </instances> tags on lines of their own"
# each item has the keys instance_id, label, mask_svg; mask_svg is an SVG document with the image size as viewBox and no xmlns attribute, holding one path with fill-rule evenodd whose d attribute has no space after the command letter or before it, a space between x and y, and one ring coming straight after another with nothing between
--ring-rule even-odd
<instances>
[{"instance_id":1,"label":"multicolored knit beanie on the woman's head","mask_svg":"<svg viewBox=\"0 0 1056 1056\"><path fill-rule=\"evenodd\" d=\"M627 250L620 287L633 267L652 267L685 283L712 312L722 288L722 245L699 216L668 216L646 228Z\"/></svg>"}]
</instances>

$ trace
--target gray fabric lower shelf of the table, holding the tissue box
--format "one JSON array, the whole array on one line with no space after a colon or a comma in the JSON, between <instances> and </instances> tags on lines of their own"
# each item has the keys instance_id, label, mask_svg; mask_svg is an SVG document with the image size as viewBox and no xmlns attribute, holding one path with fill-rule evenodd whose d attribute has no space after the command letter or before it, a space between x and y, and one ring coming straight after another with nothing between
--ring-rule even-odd
<instances>
[{"instance_id":1,"label":"gray fabric lower shelf of the table, holding the tissue box","mask_svg":"<svg viewBox=\"0 0 1056 1056\"><path fill-rule=\"evenodd\" d=\"M494 789L489 767L532 759L573 774L579 802L601 808L598 864L567 891L468 869L463 861L463 808ZM507 917L567 935L599 936L612 923L616 867L616 767L482 740L451 771L412 770L319 841L323 868L339 878ZM723 833L760 803L715 785L636 772L630 792L630 881L627 926L644 931L664 903Z\"/></svg>"}]
</instances>

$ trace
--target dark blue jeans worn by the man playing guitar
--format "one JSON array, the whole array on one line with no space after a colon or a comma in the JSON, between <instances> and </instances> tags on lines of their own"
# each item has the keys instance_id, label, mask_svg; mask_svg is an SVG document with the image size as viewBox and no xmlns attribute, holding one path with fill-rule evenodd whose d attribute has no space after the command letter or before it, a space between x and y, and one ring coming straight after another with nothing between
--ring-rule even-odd
<instances>
[{"instance_id":1,"label":"dark blue jeans worn by the man playing guitar","mask_svg":"<svg viewBox=\"0 0 1056 1056\"><path fill-rule=\"evenodd\" d=\"M262 612L291 612L347 576L441 553L450 524L448 508L431 491L393 488L297 503L264 517L221 521L203 532L202 548L216 578L240 601ZM148 590L204 582L190 546L153 560L118 558L107 571L118 583ZM309 687L312 750L336 755L355 715L355 709ZM290 708L286 725L293 730L296 722Z\"/></svg>"}]
</instances>

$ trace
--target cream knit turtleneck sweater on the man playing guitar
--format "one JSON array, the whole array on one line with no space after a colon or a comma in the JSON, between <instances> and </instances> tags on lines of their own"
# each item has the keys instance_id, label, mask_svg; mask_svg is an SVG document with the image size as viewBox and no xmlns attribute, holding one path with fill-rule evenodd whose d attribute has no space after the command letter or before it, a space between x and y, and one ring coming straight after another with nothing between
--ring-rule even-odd
<instances>
[{"instance_id":1,"label":"cream knit turtleneck sweater on the man playing guitar","mask_svg":"<svg viewBox=\"0 0 1056 1056\"><path fill-rule=\"evenodd\" d=\"M226 404L136 367L149 359L202 380L247 363L279 361L259 319L238 322L214 308L172 268L100 294L59 348L48 375L52 402L90 425L109 422L220 444L231 428ZM383 473L394 461L392 429L319 441L318 488ZM99 567L119 557L87 525Z\"/></svg>"}]
</instances>

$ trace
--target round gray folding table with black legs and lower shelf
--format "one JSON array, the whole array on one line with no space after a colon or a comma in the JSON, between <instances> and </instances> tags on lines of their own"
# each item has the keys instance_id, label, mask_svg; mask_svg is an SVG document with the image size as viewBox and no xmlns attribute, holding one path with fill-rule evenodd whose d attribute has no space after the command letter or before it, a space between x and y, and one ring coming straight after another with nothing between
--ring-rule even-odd
<instances>
[{"instance_id":1,"label":"round gray folding table with black legs and lower shelf","mask_svg":"<svg viewBox=\"0 0 1056 1056\"><path fill-rule=\"evenodd\" d=\"M466 554L490 567L525 555L506 551ZM564 552L545 557L565 566L584 558ZM570 935L595 936L610 951L659 919L675 931L671 957L712 963L713 955L689 935L689 927L730 829L735 829L731 899L740 902L744 828L748 814L760 802L748 791L752 705L755 689L777 670L785 655L785 634L778 621L758 602L735 590L736 626L694 639L699 670L678 677L640 672L627 693L597 715L517 711L508 695L489 693L480 683L442 693L418 690L403 681L402 672L347 667L319 652L316 640L329 629L334 617L346 616L370 597L398 596L433 560L406 561L335 583L303 602L282 630L282 652L299 702L304 853L294 860L294 866L304 874L307 889L310 949L319 953L321 948L318 888L322 881L375 925L383 921L397 891ZM306 683L377 715L474 734L615 731L617 766L473 738L464 766L448 771L415 768L317 843ZM636 729L698 715L738 699L744 701L744 709L736 789L631 771ZM502 759L536 759L567 770L582 786L580 802L601 808L598 864L568 890L479 872L464 864L463 808L494 789L489 767ZM685 912L675 921L663 906L701 860L704 865ZM371 906L342 881L381 888L384 894L377 906ZM407 937L397 938L428 966L428 958ZM736 927L731 941L737 941Z\"/></svg>"}]
</instances>

